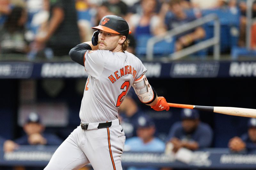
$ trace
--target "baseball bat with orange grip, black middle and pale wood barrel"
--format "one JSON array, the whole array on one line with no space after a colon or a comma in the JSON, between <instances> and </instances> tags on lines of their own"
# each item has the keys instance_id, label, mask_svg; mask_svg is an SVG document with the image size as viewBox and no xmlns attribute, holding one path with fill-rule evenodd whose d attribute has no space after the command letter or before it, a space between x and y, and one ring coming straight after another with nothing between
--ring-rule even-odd
<instances>
[{"instance_id":1,"label":"baseball bat with orange grip, black middle and pale wood barrel","mask_svg":"<svg viewBox=\"0 0 256 170\"><path fill-rule=\"evenodd\" d=\"M216 107L216 106L195 106L184 105L176 103L168 103L170 107L196 109L202 111L209 111L214 113L221 113L225 115L243 116L256 118L256 109L240 108L240 107Z\"/></svg>"}]
</instances>

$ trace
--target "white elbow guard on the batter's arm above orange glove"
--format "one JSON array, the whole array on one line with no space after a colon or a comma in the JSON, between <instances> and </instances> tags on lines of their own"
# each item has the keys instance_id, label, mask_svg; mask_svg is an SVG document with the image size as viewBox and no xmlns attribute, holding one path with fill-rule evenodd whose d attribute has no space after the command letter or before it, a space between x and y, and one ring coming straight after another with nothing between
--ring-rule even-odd
<instances>
[{"instance_id":1,"label":"white elbow guard on the batter's arm above orange glove","mask_svg":"<svg viewBox=\"0 0 256 170\"><path fill-rule=\"evenodd\" d=\"M156 92L154 88L149 85L145 75L135 80L132 87L142 103L150 104L156 99Z\"/></svg>"}]
</instances>

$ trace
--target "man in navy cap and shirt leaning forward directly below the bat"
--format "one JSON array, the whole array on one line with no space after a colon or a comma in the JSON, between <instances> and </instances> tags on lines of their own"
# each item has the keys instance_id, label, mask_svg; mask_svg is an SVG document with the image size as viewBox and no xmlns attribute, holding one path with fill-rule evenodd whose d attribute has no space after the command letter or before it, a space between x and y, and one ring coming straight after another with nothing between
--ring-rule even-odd
<instances>
[{"instance_id":1,"label":"man in navy cap and shirt leaning forward directly below the bat","mask_svg":"<svg viewBox=\"0 0 256 170\"><path fill-rule=\"evenodd\" d=\"M212 129L208 124L200 122L197 110L182 109L181 120L172 125L167 137L167 143L173 144L173 152L180 148L194 151L211 146Z\"/></svg>"}]
</instances>

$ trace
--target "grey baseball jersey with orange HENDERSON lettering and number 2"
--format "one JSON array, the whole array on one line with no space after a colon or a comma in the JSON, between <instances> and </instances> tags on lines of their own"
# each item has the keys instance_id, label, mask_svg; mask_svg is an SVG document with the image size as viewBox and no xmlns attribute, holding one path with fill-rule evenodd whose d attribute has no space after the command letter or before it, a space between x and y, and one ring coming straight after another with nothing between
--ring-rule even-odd
<instances>
[{"instance_id":1,"label":"grey baseball jersey with orange HENDERSON lettering and number 2","mask_svg":"<svg viewBox=\"0 0 256 170\"><path fill-rule=\"evenodd\" d=\"M147 69L129 52L87 51L87 78L80 108L82 122L106 122L118 117L118 109L135 79Z\"/></svg>"}]
</instances>

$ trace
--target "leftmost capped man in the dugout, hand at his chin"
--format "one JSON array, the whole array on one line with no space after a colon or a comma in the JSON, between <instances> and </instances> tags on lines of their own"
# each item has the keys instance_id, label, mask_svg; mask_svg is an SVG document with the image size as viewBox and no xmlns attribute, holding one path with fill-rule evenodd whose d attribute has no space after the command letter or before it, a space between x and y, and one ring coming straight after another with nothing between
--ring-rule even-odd
<instances>
[{"instance_id":1,"label":"leftmost capped man in the dugout, hand at his chin","mask_svg":"<svg viewBox=\"0 0 256 170\"><path fill-rule=\"evenodd\" d=\"M63 141L54 134L44 133L44 125L38 114L32 112L28 115L23 130L26 135L13 141L5 142L5 150L11 152L18 148L18 145L60 145Z\"/></svg>"}]
</instances>

